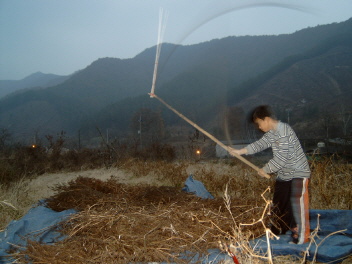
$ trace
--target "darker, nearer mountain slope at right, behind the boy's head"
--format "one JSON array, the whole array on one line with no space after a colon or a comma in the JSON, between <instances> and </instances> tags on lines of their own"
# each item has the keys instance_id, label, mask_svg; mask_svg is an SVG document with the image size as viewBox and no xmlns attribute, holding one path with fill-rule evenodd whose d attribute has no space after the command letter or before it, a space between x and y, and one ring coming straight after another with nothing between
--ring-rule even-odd
<instances>
[{"instance_id":1,"label":"darker, nearer mountain slope at right, behind the boy's head","mask_svg":"<svg viewBox=\"0 0 352 264\"><path fill-rule=\"evenodd\" d=\"M342 128L343 119L352 116L352 34L345 40L336 39L326 51L304 56L258 83L236 105L271 105L278 118L290 122L304 138L351 135L352 122L347 131Z\"/></svg>"}]
</instances>

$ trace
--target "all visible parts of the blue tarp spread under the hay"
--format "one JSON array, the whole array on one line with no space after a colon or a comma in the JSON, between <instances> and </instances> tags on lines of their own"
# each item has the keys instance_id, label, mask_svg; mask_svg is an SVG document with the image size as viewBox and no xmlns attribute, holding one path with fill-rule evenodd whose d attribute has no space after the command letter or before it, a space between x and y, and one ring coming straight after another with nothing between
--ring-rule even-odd
<instances>
[{"instance_id":1,"label":"all visible parts of the blue tarp spread under the hay","mask_svg":"<svg viewBox=\"0 0 352 264\"><path fill-rule=\"evenodd\" d=\"M193 193L204 199L213 199L213 196L206 190L203 183L193 179L190 175L183 191ZM55 212L44 205L38 205L17 221L12 221L6 230L0 233L0 264L6 261L7 250L11 244L26 246L26 238L41 243L52 244L64 237L56 231L56 226L75 210ZM309 260L312 260L318 245L316 260L323 263L340 263L352 254L352 211L351 210L310 210L310 225L314 230L317 226L317 215L320 215L318 237L316 244L313 243L309 249ZM329 236L331 233L344 230ZM281 235L279 240L270 240L273 255L296 255L302 257L309 243L303 245L289 244L290 234ZM320 244L321 243L321 244ZM265 238L259 238L251 242L253 247L260 252L267 252ZM218 249L210 249L209 255L199 256L196 254L190 259L190 263L202 260L202 263L220 263L231 259L227 254Z\"/></svg>"}]
</instances>

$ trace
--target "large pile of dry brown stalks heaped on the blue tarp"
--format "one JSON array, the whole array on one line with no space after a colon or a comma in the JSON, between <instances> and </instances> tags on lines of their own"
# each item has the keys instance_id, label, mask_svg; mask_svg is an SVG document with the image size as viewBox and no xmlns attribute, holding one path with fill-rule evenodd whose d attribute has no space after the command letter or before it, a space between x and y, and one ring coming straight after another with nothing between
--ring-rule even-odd
<instances>
[{"instance_id":1,"label":"large pile of dry brown stalks heaped on the blue tarp","mask_svg":"<svg viewBox=\"0 0 352 264\"><path fill-rule=\"evenodd\" d=\"M55 211L79 212L61 226L68 237L52 245L30 242L18 261L32 263L187 263L206 255L219 240L234 237L237 220L252 222L262 208L239 199L201 199L174 187L128 186L80 177L56 187L48 200ZM263 205L264 206L264 205ZM249 226L242 241L261 235L261 225Z\"/></svg>"}]
</instances>

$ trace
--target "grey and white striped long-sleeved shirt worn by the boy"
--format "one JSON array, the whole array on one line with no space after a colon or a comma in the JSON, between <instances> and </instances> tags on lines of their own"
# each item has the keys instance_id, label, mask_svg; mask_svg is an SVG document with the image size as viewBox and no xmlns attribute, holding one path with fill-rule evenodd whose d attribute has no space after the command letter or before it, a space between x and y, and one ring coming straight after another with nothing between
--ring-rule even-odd
<instances>
[{"instance_id":1,"label":"grey and white striped long-sleeved shirt worn by the boy","mask_svg":"<svg viewBox=\"0 0 352 264\"><path fill-rule=\"evenodd\" d=\"M279 121L276 130L266 132L261 139L246 147L249 155L267 148L272 148L273 158L263 167L266 173L277 172L277 177L284 181L310 177L306 155L288 124Z\"/></svg>"}]
</instances>

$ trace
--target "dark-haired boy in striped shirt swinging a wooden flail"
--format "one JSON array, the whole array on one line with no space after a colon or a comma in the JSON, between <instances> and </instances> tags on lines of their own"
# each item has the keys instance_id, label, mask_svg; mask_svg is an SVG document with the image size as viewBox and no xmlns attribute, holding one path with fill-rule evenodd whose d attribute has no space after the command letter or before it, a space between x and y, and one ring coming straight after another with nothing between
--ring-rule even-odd
<instances>
[{"instance_id":1,"label":"dark-haired boy in striped shirt swinging a wooden flail","mask_svg":"<svg viewBox=\"0 0 352 264\"><path fill-rule=\"evenodd\" d=\"M303 244L309 241L308 182L310 169L301 143L293 129L277 120L267 105L256 107L252 121L264 132L261 139L242 149L228 148L230 155L251 155L271 148L273 158L258 174L277 173L273 195L273 210L278 221L271 225L275 235L291 230L290 243Z\"/></svg>"}]
</instances>

